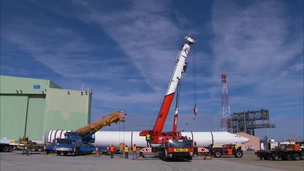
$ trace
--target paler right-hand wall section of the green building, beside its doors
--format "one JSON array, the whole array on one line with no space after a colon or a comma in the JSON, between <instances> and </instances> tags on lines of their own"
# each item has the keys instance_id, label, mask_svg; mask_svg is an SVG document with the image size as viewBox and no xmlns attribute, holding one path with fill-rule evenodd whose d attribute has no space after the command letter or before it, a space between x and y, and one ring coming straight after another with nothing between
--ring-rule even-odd
<instances>
[{"instance_id":1,"label":"paler right-hand wall section of the green building, beside its doors","mask_svg":"<svg viewBox=\"0 0 304 171\"><path fill-rule=\"evenodd\" d=\"M49 88L47 93L44 128L77 129L89 123L90 93Z\"/></svg>"}]
</instances>

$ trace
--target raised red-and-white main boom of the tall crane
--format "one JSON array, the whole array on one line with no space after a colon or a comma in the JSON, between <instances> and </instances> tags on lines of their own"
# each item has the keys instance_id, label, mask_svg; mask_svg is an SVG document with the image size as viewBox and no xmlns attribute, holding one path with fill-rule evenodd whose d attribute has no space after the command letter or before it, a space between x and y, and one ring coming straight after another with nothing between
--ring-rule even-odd
<instances>
[{"instance_id":1,"label":"raised red-and-white main boom of the tall crane","mask_svg":"<svg viewBox=\"0 0 304 171\"><path fill-rule=\"evenodd\" d=\"M187 55L190 51L190 44L195 43L195 40L190 37L190 34L186 37L184 37L185 43L181 46L176 60L175 60L175 67L173 69L173 72L170 77L170 81L168 83L168 87L165 91L165 95L163 97L163 101L161 103L155 124L153 126L152 130L143 130L139 133L140 136L145 136L148 132L152 136L152 143L159 143L160 141L158 139L155 139L153 136L161 136L165 133L162 132L162 128L164 125L164 122L166 120L166 117L168 115L168 111L170 109L175 90L177 85L180 84L180 81L183 76L183 72L185 72L187 67ZM172 132L171 132L172 133Z\"/></svg>"}]
</instances>

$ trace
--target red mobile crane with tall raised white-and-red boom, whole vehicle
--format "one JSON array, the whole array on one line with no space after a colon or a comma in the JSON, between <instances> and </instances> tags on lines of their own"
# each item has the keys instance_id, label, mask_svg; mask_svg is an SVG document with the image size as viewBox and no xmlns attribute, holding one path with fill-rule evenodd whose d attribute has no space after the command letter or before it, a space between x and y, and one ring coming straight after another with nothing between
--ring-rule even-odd
<instances>
[{"instance_id":1,"label":"red mobile crane with tall raised white-and-red boom, whole vehicle","mask_svg":"<svg viewBox=\"0 0 304 171\"><path fill-rule=\"evenodd\" d=\"M187 68L186 59L190 51L190 45L195 43L195 40L190 37L190 33L184 37L184 39L185 42L182 44L175 59L175 67L171 74L154 126L151 130L142 130L139 133L140 136L146 136L146 134L149 133L151 135L151 143L161 144L159 147L145 147L145 150L159 152L159 156L164 160L170 158L184 158L191 160L194 151L193 140L181 136L180 131L176 131L180 82L183 77L183 73ZM163 132L162 128L168 115L176 88L177 92L173 130L170 132ZM144 150L141 149L139 153L141 156L142 151Z\"/></svg>"}]
</instances>

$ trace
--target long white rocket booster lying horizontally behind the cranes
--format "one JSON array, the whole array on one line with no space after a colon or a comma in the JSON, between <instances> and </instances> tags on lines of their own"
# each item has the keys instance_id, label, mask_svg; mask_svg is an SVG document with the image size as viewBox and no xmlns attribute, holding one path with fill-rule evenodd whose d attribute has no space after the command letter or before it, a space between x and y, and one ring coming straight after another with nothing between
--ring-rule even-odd
<instances>
[{"instance_id":1,"label":"long white rocket booster lying horizontally behind the cranes","mask_svg":"<svg viewBox=\"0 0 304 171\"><path fill-rule=\"evenodd\" d=\"M49 130L45 133L44 142L52 142L54 138L64 138L66 131ZM210 144L245 143L250 141L249 138L229 132L181 132L181 135L193 139L198 147L207 147ZM97 131L95 132L95 143L93 144L98 146L111 144L119 146L120 142L128 146L133 146L134 143L136 146L146 146L145 137L139 136L139 131ZM152 144L152 146L158 145Z\"/></svg>"}]
</instances>

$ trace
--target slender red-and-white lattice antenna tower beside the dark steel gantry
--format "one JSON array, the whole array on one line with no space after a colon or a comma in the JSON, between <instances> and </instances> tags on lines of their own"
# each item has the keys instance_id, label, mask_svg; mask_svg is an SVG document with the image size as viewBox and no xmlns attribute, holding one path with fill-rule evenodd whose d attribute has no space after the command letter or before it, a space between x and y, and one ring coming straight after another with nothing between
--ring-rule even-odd
<instances>
[{"instance_id":1,"label":"slender red-and-white lattice antenna tower beside the dark steel gantry","mask_svg":"<svg viewBox=\"0 0 304 171\"><path fill-rule=\"evenodd\" d=\"M227 74L221 74L222 91L221 91L221 117L220 130L232 133L232 121L230 113L229 96L227 89Z\"/></svg>"}]
</instances>

